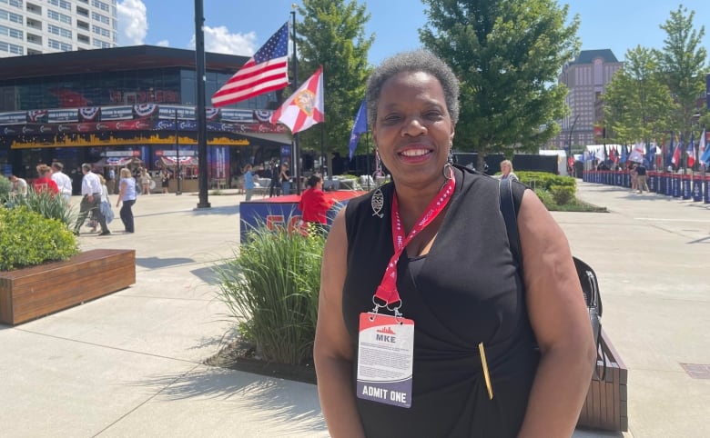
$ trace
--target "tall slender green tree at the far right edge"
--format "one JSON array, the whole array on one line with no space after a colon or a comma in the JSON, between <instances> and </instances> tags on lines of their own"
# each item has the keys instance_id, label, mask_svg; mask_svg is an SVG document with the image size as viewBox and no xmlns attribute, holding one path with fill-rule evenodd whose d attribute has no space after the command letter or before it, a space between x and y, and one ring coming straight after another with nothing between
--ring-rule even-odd
<instances>
[{"instance_id":1,"label":"tall slender green tree at the far right edge","mask_svg":"<svg viewBox=\"0 0 710 438\"><path fill-rule=\"evenodd\" d=\"M707 73L707 50L702 46L705 26L695 30L695 11L683 5L671 11L671 16L660 25L666 33L664 47L657 52L665 83L677 103L673 114L673 130L689 137L688 130L694 114L702 114L702 95Z\"/></svg>"}]
</instances>

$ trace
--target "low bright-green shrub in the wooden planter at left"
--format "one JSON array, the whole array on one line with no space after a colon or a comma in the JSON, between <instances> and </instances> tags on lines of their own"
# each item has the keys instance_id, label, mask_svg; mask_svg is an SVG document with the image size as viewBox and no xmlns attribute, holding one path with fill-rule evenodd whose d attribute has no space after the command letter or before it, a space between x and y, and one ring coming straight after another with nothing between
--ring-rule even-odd
<instances>
[{"instance_id":1,"label":"low bright-green shrub in the wooden planter at left","mask_svg":"<svg viewBox=\"0 0 710 438\"><path fill-rule=\"evenodd\" d=\"M78 254L74 234L56 219L47 219L26 206L0 208L0 271Z\"/></svg>"}]
</instances>

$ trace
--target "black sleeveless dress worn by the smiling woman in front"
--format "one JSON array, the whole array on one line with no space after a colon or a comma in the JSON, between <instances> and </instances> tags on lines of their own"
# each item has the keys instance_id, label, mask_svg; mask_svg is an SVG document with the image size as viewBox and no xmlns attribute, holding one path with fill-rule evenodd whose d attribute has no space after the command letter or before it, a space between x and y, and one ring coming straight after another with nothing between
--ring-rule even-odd
<instances>
[{"instance_id":1,"label":"black sleeveless dress worn by the smiling woman in front","mask_svg":"<svg viewBox=\"0 0 710 438\"><path fill-rule=\"evenodd\" d=\"M368 437L512 437L522 423L539 353L499 207L498 181L462 168L455 174L456 190L431 251L410 258L405 250L398 263L401 312L415 327L411 408L358 398ZM524 189L513 184L518 205ZM381 190L382 218L373 215L371 194L350 200L345 215L342 311L354 352L359 314L372 309L372 295L394 253L394 187ZM479 343L485 346L492 400Z\"/></svg>"}]
</instances>

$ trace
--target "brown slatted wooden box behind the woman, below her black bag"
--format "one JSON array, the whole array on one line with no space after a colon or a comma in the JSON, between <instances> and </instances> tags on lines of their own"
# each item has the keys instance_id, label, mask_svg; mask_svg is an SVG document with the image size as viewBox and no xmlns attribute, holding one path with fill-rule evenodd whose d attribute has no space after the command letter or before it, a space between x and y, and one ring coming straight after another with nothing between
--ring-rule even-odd
<instances>
[{"instance_id":1,"label":"brown slatted wooden box behind the woman, below her black bag","mask_svg":"<svg viewBox=\"0 0 710 438\"><path fill-rule=\"evenodd\" d=\"M602 380L604 359L606 360L606 374ZM602 330L602 342L596 368L577 425L607 431L628 431L627 377L626 365Z\"/></svg>"}]
</instances>

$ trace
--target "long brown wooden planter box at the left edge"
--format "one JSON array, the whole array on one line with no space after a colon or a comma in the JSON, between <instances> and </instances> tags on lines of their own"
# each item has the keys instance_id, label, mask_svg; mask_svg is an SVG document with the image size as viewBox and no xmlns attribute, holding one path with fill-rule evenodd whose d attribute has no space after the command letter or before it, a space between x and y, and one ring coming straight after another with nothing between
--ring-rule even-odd
<instances>
[{"instance_id":1,"label":"long brown wooden planter box at the left edge","mask_svg":"<svg viewBox=\"0 0 710 438\"><path fill-rule=\"evenodd\" d=\"M0 323L21 324L136 283L136 251L95 249L0 272Z\"/></svg>"}]
</instances>

